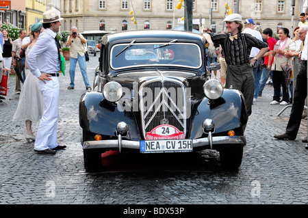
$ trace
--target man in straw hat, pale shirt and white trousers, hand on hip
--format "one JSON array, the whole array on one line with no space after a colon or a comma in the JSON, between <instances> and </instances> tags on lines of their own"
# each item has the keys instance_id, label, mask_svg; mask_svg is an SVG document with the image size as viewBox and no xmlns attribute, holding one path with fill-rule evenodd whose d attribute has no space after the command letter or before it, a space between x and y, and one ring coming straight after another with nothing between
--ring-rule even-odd
<instances>
[{"instance_id":1,"label":"man in straw hat, pale shirt and white trousers, hand on hip","mask_svg":"<svg viewBox=\"0 0 308 218\"><path fill-rule=\"evenodd\" d=\"M57 144L61 59L56 33L62 19L55 10L44 12L40 22L45 30L40 33L27 56L27 65L38 77L38 86L44 99L44 111L34 143L34 151L40 154L55 154L55 150L66 148Z\"/></svg>"}]
</instances>

